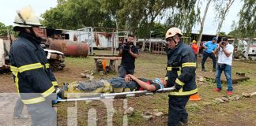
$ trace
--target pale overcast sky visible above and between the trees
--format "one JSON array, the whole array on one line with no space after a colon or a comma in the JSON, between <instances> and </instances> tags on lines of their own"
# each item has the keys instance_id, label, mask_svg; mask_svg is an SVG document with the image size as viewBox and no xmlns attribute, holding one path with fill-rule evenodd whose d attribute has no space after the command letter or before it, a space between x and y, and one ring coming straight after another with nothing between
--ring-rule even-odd
<instances>
[{"instance_id":1,"label":"pale overcast sky visible above and between the trees","mask_svg":"<svg viewBox=\"0 0 256 126\"><path fill-rule=\"evenodd\" d=\"M201 6L201 17L205 12L205 4L206 3L203 3ZM31 5L35 13L40 16L47 9L51 9L51 7L57 6L57 0L2 0L0 5L0 22L6 25L13 25L13 19L16 15L16 10L27 5ZM226 20L224 20L224 24L220 31L224 31L226 33L232 31L232 20L235 20L236 22L239 20L239 16L237 14L239 13L241 7L242 4L240 0L235 0L228 12L228 17L226 17ZM216 34L218 22L214 21L215 13L216 12L214 11L212 2L205 19L205 27L203 31L204 34ZM200 25L195 26L192 32L198 32L199 27Z\"/></svg>"}]
</instances>

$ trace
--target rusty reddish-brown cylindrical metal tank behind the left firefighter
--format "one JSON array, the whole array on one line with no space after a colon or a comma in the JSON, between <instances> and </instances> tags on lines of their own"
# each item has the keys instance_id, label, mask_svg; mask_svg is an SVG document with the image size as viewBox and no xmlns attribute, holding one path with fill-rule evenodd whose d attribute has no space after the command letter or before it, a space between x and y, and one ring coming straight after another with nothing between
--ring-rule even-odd
<instances>
[{"instance_id":1,"label":"rusty reddish-brown cylindrical metal tank behind the left firefighter","mask_svg":"<svg viewBox=\"0 0 256 126\"><path fill-rule=\"evenodd\" d=\"M58 50L66 56L87 57L88 44L66 39L47 39L47 45L50 50Z\"/></svg>"}]
</instances>

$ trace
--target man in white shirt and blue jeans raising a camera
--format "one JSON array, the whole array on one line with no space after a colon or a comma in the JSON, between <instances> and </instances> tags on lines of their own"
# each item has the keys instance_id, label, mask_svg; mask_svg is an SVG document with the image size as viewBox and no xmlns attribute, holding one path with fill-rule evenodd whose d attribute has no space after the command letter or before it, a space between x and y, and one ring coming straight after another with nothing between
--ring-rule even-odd
<instances>
[{"instance_id":1,"label":"man in white shirt and blue jeans raising a camera","mask_svg":"<svg viewBox=\"0 0 256 126\"><path fill-rule=\"evenodd\" d=\"M232 57L234 46L228 43L227 37L222 37L222 41L219 43L217 49L214 53L218 52L218 61L216 67L216 88L214 91L221 91L221 81L220 76L222 71L227 79L227 86L228 86L228 95L232 95Z\"/></svg>"}]
</instances>

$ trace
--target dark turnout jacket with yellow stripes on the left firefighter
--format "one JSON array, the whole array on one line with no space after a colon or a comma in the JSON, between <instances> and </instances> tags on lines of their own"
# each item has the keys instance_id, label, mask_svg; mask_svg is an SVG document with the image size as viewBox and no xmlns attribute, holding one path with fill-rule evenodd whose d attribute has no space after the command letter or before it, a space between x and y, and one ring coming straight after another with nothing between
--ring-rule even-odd
<instances>
[{"instance_id":1,"label":"dark turnout jacket with yellow stripes on the left firefighter","mask_svg":"<svg viewBox=\"0 0 256 126\"><path fill-rule=\"evenodd\" d=\"M24 104L43 102L55 92L58 83L49 68L40 39L20 32L9 51L9 60L17 92Z\"/></svg>"}]
</instances>

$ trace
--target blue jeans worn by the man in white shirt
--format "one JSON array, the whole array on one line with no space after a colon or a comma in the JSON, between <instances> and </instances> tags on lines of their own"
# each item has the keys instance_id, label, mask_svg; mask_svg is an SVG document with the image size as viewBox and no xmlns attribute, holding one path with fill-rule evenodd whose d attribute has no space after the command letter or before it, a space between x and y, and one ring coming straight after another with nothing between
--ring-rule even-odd
<instances>
[{"instance_id":1,"label":"blue jeans worn by the man in white shirt","mask_svg":"<svg viewBox=\"0 0 256 126\"><path fill-rule=\"evenodd\" d=\"M222 71L224 71L224 74L227 79L227 86L228 86L228 91L233 91L232 88L232 66L231 65L226 65L226 64L218 64L216 68L216 87L221 89L221 81L220 81L220 76Z\"/></svg>"}]
</instances>

